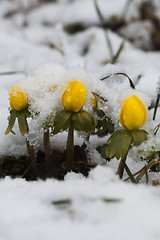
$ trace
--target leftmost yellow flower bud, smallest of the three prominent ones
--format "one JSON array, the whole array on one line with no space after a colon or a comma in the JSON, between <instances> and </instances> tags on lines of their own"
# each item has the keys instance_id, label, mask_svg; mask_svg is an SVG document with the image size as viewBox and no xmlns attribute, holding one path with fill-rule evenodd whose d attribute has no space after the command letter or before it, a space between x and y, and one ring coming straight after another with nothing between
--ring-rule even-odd
<instances>
[{"instance_id":1,"label":"leftmost yellow flower bud, smallest of the three prominent ones","mask_svg":"<svg viewBox=\"0 0 160 240\"><path fill-rule=\"evenodd\" d=\"M10 92L10 106L17 111L24 110L28 105L27 94L19 87L13 87Z\"/></svg>"}]
</instances>

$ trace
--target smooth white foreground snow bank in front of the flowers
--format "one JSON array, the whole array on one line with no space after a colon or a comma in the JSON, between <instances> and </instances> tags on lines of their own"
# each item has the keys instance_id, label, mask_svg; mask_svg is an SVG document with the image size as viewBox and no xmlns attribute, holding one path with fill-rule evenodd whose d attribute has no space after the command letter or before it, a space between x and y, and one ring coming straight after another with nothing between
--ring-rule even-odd
<instances>
[{"instance_id":1,"label":"smooth white foreground snow bank in front of the flowers","mask_svg":"<svg viewBox=\"0 0 160 240\"><path fill-rule=\"evenodd\" d=\"M108 167L88 179L73 173L65 181L5 178L0 191L1 239L159 239L159 188L120 182Z\"/></svg>"}]
</instances>

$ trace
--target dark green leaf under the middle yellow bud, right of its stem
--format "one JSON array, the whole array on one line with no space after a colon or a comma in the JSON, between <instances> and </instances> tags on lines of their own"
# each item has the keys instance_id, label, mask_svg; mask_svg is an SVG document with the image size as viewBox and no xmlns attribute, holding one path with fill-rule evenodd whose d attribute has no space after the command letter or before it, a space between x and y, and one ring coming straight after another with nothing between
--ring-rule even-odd
<instances>
[{"instance_id":1,"label":"dark green leaf under the middle yellow bud, right of its stem","mask_svg":"<svg viewBox=\"0 0 160 240\"><path fill-rule=\"evenodd\" d=\"M81 110L72 114L72 120L74 121L74 128L76 131L93 132L96 121L90 113Z\"/></svg>"}]
</instances>

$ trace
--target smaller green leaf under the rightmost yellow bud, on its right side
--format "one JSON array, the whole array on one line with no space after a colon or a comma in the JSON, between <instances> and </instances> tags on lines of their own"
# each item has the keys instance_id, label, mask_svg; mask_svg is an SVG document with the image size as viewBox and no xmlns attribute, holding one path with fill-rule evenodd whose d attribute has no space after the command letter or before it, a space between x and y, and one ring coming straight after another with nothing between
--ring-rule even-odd
<instances>
[{"instance_id":1,"label":"smaller green leaf under the rightmost yellow bud, on its right side","mask_svg":"<svg viewBox=\"0 0 160 240\"><path fill-rule=\"evenodd\" d=\"M133 138L133 145L134 146L139 146L139 145L141 145L142 142L147 140L148 133L144 130L140 130L140 129L132 130L130 132L130 134Z\"/></svg>"}]
</instances>

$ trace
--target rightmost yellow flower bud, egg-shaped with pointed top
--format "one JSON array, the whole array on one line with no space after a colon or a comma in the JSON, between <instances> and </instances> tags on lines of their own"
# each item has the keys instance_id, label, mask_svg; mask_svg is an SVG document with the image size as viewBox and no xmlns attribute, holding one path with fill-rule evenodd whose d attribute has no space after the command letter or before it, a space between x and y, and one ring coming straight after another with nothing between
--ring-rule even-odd
<instances>
[{"instance_id":1,"label":"rightmost yellow flower bud, egg-shaped with pointed top","mask_svg":"<svg viewBox=\"0 0 160 240\"><path fill-rule=\"evenodd\" d=\"M136 95L123 101L119 115L119 121L123 128L127 130L138 129L145 123L146 118L146 108Z\"/></svg>"}]
</instances>

